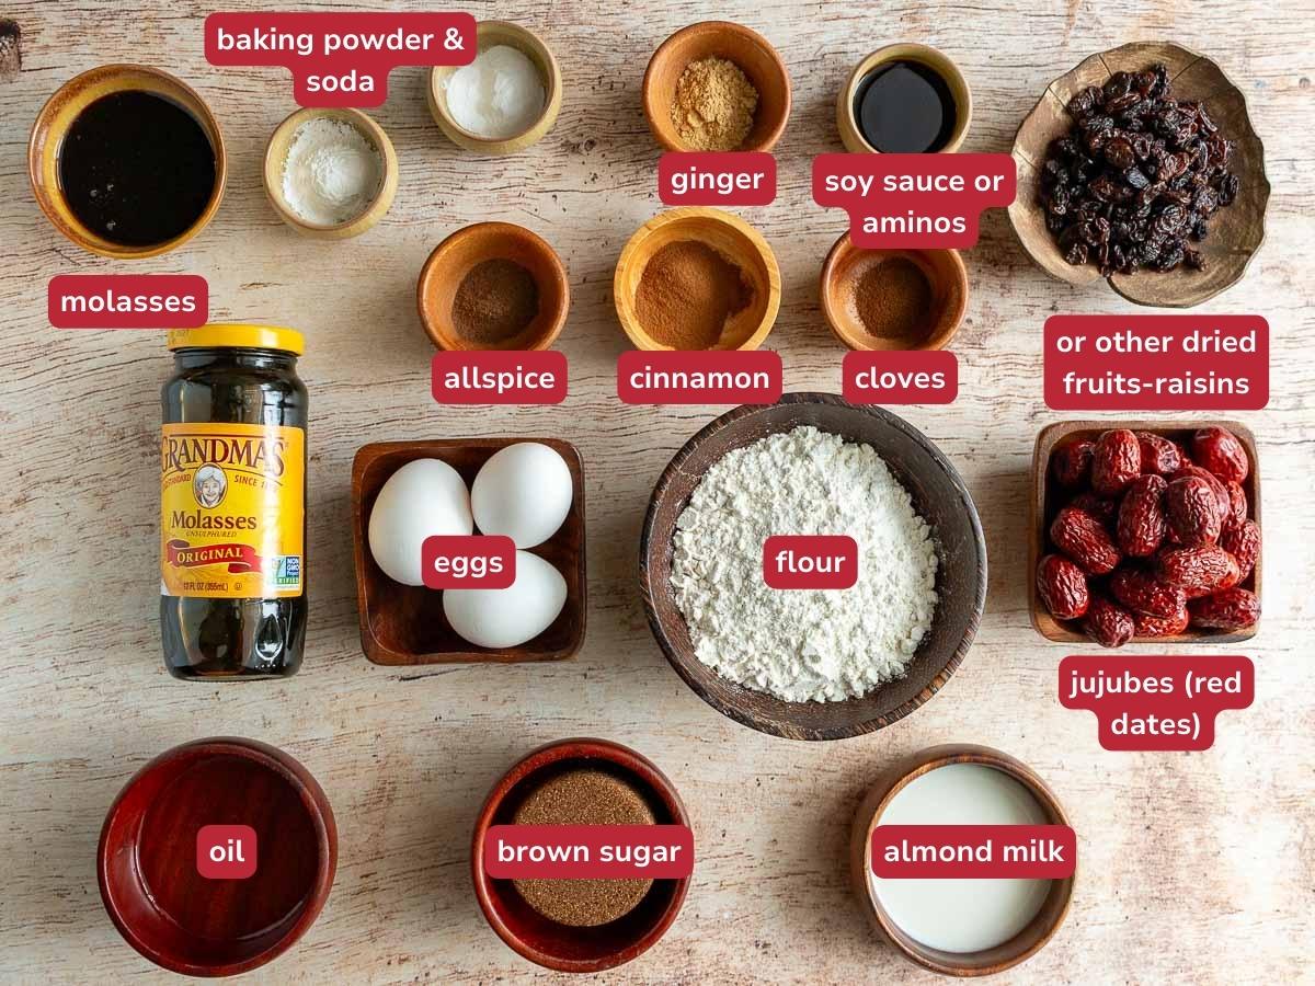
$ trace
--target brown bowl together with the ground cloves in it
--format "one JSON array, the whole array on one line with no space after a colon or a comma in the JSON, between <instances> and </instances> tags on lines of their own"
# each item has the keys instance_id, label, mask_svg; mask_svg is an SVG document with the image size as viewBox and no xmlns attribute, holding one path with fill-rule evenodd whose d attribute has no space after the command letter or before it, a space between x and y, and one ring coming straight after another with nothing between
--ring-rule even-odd
<instances>
[{"instance_id":1,"label":"brown bowl together with the ground cloves in it","mask_svg":"<svg viewBox=\"0 0 1315 986\"><path fill-rule=\"evenodd\" d=\"M943 350L968 305L957 250L860 250L843 234L821 277L822 312L851 350Z\"/></svg>"}]
</instances>

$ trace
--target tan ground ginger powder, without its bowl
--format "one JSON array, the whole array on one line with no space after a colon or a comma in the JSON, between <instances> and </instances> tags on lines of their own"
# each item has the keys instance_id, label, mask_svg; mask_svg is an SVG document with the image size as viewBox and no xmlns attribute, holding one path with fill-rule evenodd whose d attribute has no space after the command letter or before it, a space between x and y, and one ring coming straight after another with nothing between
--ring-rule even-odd
<instances>
[{"instance_id":1,"label":"tan ground ginger powder, without its bowl","mask_svg":"<svg viewBox=\"0 0 1315 986\"><path fill-rule=\"evenodd\" d=\"M676 80L671 122L696 151L734 151L753 129L757 89L725 58L700 58Z\"/></svg>"}]
</instances>

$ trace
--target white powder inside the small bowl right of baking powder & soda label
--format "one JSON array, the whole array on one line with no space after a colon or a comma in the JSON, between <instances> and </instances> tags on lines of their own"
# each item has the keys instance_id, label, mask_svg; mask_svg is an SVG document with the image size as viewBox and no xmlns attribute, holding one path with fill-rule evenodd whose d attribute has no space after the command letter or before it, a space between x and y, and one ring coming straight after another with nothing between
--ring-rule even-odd
<instances>
[{"instance_id":1,"label":"white powder inside the small bowl right of baking powder & soda label","mask_svg":"<svg viewBox=\"0 0 1315 986\"><path fill-rule=\"evenodd\" d=\"M463 130L505 141L523 134L543 116L543 78L534 62L510 45L480 51L444 80L447 112Z\"/></svg>"}]
</instances>

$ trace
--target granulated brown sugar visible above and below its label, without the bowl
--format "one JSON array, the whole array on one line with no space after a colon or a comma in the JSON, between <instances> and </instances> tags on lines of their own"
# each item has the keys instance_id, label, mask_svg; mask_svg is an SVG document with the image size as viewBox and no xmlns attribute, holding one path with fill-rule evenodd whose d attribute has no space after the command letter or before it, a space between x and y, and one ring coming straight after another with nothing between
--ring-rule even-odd
<instances>
[{"instance_id":1,"label":"granulated brown sugar visible above and below its label, without the bowl","mask_svg":"<svg viewBox=\"0 0 1315 986\"><path fill-rule=\"evenodd\" d=\"M651 826L656 823L643 795L604 770L568 770L533 790L513 822L518 826ZM526 903L550 920L593 928L630 914L651 880L517 880Z\"/></svg>"}]
</instances>

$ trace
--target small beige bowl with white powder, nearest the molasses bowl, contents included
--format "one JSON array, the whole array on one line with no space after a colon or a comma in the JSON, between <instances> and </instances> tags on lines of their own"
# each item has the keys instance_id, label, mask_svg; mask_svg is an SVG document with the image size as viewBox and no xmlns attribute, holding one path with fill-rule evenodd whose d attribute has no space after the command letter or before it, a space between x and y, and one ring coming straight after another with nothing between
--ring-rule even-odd
<instances>
[{"instance_id":1,"label":"small beige bowl with white powder, nearest the molasses bowl, contents included","mask_svg":"<svg viewBox=\"0 0 1315 986\"><path fill-rule=\"evenodd\" d=\"M356 109L299 109L270 135L264 191L297 233L347 239L371 229L397 193L388 134Z\"/></svg>"}]
</instances>

